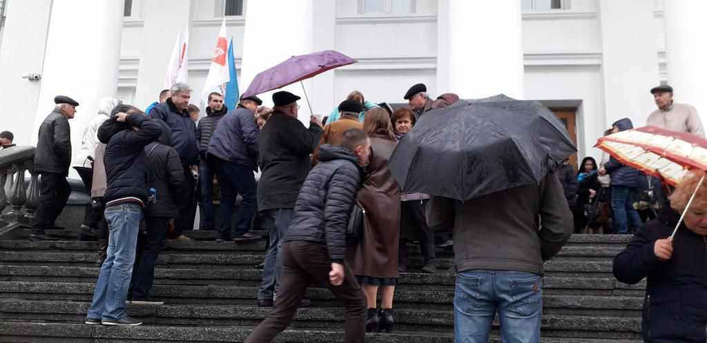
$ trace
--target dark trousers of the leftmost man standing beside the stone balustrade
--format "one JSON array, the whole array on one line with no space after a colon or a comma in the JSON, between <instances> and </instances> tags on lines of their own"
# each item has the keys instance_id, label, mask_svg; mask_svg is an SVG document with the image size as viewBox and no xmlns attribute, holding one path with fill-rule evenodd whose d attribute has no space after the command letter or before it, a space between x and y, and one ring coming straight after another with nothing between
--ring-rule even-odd
<instances>
[{"instance_id":1,"label":"dark trousers of the leftmost man standing beside the stone balustrade","mask_svg":"<svg viewBox=\"0 0 707 343\"><path fill-rule=\"evenodd\" d=\"M62 174L41 173L39 183L40 202L32 222L32 233L35 235L42 235L45 230L54 227L54 221L62 214L71 194L69 182Z\"/></svg>"}]
</instances>

